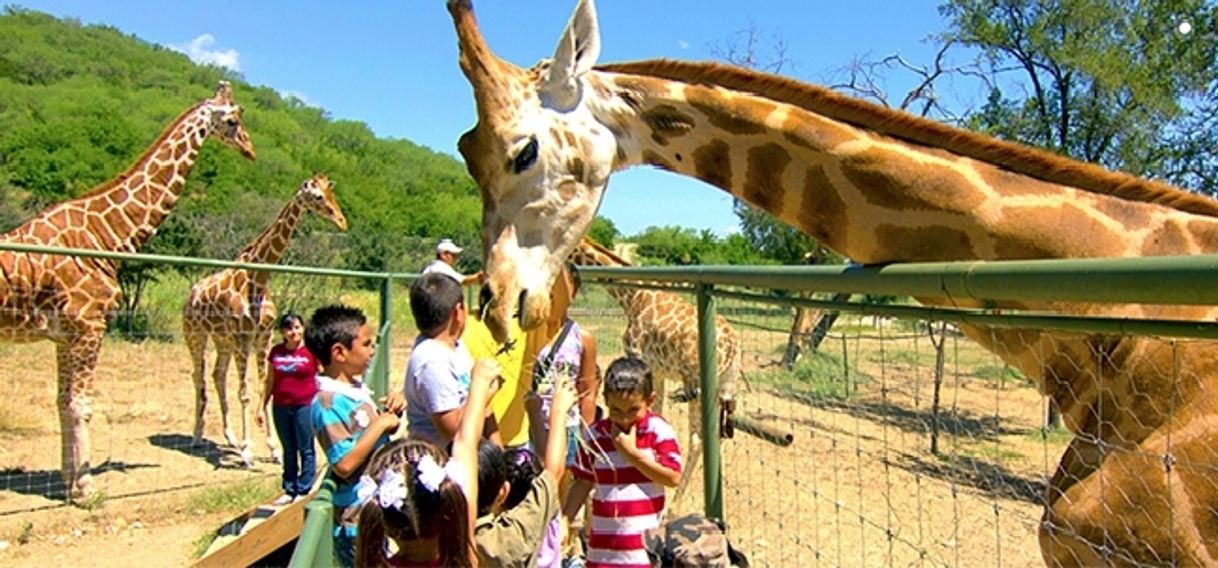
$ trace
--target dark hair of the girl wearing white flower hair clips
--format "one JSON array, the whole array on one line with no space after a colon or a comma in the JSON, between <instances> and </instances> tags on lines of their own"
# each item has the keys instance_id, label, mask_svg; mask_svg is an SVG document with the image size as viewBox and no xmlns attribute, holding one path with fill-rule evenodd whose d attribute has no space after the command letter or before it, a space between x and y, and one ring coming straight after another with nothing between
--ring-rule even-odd
<instances>
[{"instance_id":1,"label":"dark hair of the girl wearing white flower hair clips","mask_svg":"<svg viewBox=\"0 0 1218 568\"><path fill-rule=\"evenodd\" d=\"M374 480L389 469L401 473L406 478L407 499L402 500L401 508L381 508L371 499L359 509L356 566L389 566L386 539L398 544L436 539L438 566L470 566L475 552L469 539L465 494L447 478L436 491L419 483L419 461L424 456L431 456L440 466L448 461L443 450L434 444L412 439L391 441L368 461L365 474Z\"/></svg>"}]
</instances>

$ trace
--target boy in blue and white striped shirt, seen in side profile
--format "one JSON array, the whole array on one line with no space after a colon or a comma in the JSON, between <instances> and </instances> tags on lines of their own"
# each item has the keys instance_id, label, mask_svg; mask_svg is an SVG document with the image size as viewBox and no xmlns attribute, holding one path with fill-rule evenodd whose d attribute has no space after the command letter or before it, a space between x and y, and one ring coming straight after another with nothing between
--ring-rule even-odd
<instances>
[{"instance_id":1,"label":"boy in blue and white striped shirt, seen in side profile","mask_svg":"<svg viewBox=\"0 0 1218 568\"><path fill-rule=\"evenodd\" d=\"M373 333L359 310L326 306L313 312L304 345L325 369L317 375L311 418L336 481L334 553L342 566L352 566L362 505L356 484L368 457L397 430L406 402L393 394L386 400L386 412L376 411L371 390L362 380L375 352Z\"/></svg>"}]
</instances>

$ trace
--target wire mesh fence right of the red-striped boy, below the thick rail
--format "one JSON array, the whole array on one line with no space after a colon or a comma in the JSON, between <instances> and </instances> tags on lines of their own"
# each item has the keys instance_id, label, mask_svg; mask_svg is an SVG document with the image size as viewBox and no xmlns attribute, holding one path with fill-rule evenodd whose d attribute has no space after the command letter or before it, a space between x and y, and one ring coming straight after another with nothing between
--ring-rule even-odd
<instances>
[{"instance_id":1,"label":"wire mesh fence right of the red-striped boy, below the thick rail","mask_svg":"<svg viewBox=\"0 0 1218 568\"><path fill-rule=\"evenodd\" d=\"M604 367L622 353L626 322L597 288L575 317L597 334ZM811 322L836 317L828 332L793 333L792 307L720 299L717 308L741 338L745 427L722 441L725 517L754 566L1044 564L1038 529L1073 436L1019 371L938 321L814 311ZM1177 371L1153 380L1174 383ZM689 408L670 397L663 411L683 447ZM702 477L691 483L670 514L703 509Z\"/></svg>"}]
</instances>

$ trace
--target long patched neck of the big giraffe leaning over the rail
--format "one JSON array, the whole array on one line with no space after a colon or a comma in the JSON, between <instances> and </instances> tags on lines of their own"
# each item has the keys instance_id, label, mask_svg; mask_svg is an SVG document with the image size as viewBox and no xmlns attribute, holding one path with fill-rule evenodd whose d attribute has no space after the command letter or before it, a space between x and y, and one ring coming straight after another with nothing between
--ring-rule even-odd
<instances>
[{"instance_id":1,"label":"long patched neck of the big giraffe leaning over the rail","mask_svg":"<svg viewBox=\"0 0 1218 568\"><path fill-rule=\"evenodd\" d=\"M1211 215L1045 182L781 98L610 71L588 82L615 169L702 179L857 262L1218 251Z\"/></svg>"}]
</instances>

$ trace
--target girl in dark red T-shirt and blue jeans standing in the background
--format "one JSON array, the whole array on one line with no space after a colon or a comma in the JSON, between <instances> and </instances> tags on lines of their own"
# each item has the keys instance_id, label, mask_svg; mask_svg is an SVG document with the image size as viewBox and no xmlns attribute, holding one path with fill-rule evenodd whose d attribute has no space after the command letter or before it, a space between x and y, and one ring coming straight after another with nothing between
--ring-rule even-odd
<instances>
[{"instance_id":1,"label":"girl in dark red T-shirt and blue jeans standing in the background","mask_svg":"<svg viewBox=\"0 0 1218 568\"><path fill-rule=\"evenodd\" d=\"M253 421L263 427L263 412L267 402L273 400L270 416L284 449L284 494L274 503L283 506L313 489L317 458L309 405L317 395L320 364L304 346L304 321L298 314L284 313L279 318L279 333L284 340L270 347L267 356L267 378Z\"/></svg>"}]
</instances>

